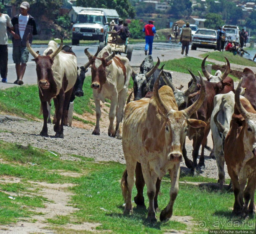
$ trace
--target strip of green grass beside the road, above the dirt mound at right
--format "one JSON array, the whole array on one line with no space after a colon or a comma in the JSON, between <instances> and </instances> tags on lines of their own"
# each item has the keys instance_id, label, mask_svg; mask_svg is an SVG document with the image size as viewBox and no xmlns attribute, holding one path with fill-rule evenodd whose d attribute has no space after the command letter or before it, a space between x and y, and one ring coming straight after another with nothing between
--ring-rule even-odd
<instances>
[{"instance_id":1,"label":"strip of green grass beside the road, above the dirt mound at right","mask_svg":"<svg viewBox=\"0 0 256 234\"><path fill-rule=\"evenodd\" d=\"M253 62L252 60L248 60L246 58L243 58L241 56L238 55L233 55L233 53L224 51L224 52L210 52L210 53L206 53L206 54L201 54L200 57L204 58L205 56L207 56L209 54L208 59L214 59L217 61L221 61L226 62L226 59L223 56L226 56L226 58L229 60L230 63L233 64L238 64L238 65L243 65L243 66L256 66L256 63ZM231 65L231 69L232 69L232 65Z\"/></svg>"}]
</instances>

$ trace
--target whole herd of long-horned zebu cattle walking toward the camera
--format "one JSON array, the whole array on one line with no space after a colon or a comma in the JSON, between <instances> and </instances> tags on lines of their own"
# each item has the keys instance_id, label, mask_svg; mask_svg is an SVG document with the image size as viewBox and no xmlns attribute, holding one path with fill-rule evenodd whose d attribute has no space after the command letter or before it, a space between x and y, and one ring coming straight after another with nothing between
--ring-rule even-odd
<instances>
[{"instance_id":1,"label":"whole herd of long-horned zebu cattle walking toward the camera","mask_svg":"<svg viewBox=\"0 0 256 234\"><path fill-rule=\"evenodd\" d=\"M89 62L78 68L71 47L50 41L41 56L27 41L30 54L36 62L39 98L43 111L41 136L48 135L48 108L54 100L54 131L56 137L63 137L63 125L69 102L76 96L83 96L82 84L87 68L91 66L91 88L96 107L96 125L92 134L100 135L100 101L111 100L108 135L122 139L126 170L121 179L125 199L124 213L132 212L132 188L134 183L137 206L145 207L143 187L147 185L149 199L148 221L155 222L158 209L157 197L161 179L166 173L171 177L170 201L160 214L160 220L172 216L173 205L179 190L180 162L194 174L195 169L204 168L204 148L209 131L212 132L213 152L219 170L220 188L225 181L224 163L232 180L235 202L233 212L246 217L255 212L254 192L256 186L256 78L250 69L244 69L236 90L233 79L228 77L230 63L226 59L226 71L215 76L207 72L205 61L199 73L188 88L181 91L172 83L172 76L158 69L149 55L136 73L129 60L112 53L106 46L95 55L88 49L84 53ZM226 58L226 57L225 57ZM134 101L124 110L129 79L132 76ZM130 96L129 96L130 97ZM116 126L114 127L114 118ZM121 122L123 121L123 134ZM193 139L193 161L187 157L186 136ZM201 146L199 163L197 158ZM136 180L135 180L136 174Z\"/></svg>"}]
</instances>

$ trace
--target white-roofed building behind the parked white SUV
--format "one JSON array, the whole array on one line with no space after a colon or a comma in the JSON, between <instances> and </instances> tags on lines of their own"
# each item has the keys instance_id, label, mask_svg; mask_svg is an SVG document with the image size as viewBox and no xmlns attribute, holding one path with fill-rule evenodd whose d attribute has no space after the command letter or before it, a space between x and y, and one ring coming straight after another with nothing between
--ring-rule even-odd
<instances>
[{"instance_id":1,"label":"white-roofed building behind the parked white SUV","mask_svg":"<svg viewBox=\"0 0 256 234\"><path fill-rule=\"evenodd\" d=\"M103 8L89 8L89 7L72 7L69 10L69 17L71 19L72 22L75 22L76 20L76 16L77 13L79 13L81 10L83 9L90 9L90 10L103 10L106 13L108 22L111 22L112 20L114 20L115 22L117 22L119 15L117 13L117 11L115 9L103 9Z\"/></svg>"}]
</instances>

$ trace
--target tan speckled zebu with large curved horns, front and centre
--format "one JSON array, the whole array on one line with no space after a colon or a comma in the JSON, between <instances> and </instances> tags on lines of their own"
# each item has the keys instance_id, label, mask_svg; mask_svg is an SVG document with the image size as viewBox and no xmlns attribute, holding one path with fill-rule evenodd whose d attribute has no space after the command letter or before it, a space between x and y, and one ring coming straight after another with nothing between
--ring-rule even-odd
<instances>
[{"instance_id":1,"label":"tan speckled zebu with large curved horns, front and centre","mask_svg":"<svg viewBox=\"0 0 256 234\"><path fill-rule=\"evenodd\" d=\"M198 100L187 109L178 111L172 89L164 85L158 90L159 76L154 84L152 98L142 98L128 103L123 123L122 145L127 169L121 179L122 194L125 199L124 213L132 212L134 174L136 164L140 162L147 185L149 222L156 221L154 210L156 180L161 179L167 172L171 176L170 201L161 212L160 220L171 218L174 200L179 190L181 147L186 137L187 126L198 128L206 125L203 121L189 118L200 107L205 96L202 77Z\"/></svg>"}]
</instances>

